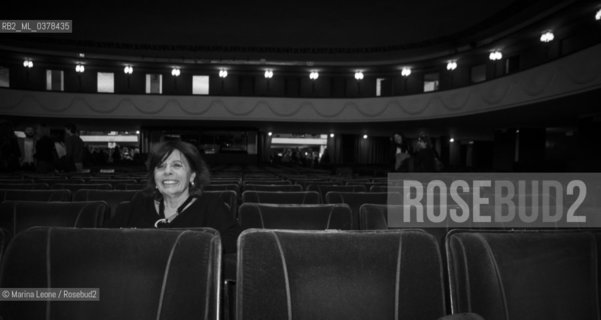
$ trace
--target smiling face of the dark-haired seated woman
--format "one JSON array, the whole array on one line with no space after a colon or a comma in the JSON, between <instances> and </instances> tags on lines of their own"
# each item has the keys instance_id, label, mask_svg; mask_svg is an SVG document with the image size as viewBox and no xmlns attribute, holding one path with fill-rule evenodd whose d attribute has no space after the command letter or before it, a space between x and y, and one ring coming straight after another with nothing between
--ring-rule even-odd
<instances>
[{"instance_id":1,"label":"smiling face of the dark-haired seated woman","mask_svg":"<svg viewBox=\"0 0 601 320\"><path fill-rule=\"evenodd\" d=\"M196 173L192 172L190 164L177 149L169 157L154 168L154 181L159 192L164 197L178 197L187 194L190 182Z\"/></svg>"}]
</instances>

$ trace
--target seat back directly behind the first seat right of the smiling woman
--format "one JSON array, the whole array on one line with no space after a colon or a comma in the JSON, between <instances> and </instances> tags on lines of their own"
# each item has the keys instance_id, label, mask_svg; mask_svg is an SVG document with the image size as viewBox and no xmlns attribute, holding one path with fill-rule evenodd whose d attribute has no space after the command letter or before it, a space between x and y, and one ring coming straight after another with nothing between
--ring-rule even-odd
<instances>
[{"instance_id":1,"label":"seat back directly behind the first seat right of the smiling woman","mask_svg":"<svg viewBox=\"0 0 601 320\"><path fill-rule=\"evenodd\" d=\"M242 202L278 204L320 204L321 197L316 191L253 191L242 193Z\"/></svg>"}]
</instances>

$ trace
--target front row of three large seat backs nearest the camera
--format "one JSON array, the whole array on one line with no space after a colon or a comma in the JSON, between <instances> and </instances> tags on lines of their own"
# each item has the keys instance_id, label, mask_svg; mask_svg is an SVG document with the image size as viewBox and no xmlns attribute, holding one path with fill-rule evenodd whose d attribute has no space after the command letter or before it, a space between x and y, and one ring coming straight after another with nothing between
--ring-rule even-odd
<instances>
[{"instance_id":1,"label":"front row of three large seat backs nearest the camera","mask_svg":"<svg viewBox=\"0 0 601 320\"><path fill-rule=\"evenodd\" d=\"M599 319L599 239L595 231L455 230L441 248L420 230L251 229L239 238L229 296L212 229L37 227L11 241L0 287L99 288L100 299L1 301L0 316Z\"/></svg>"}]
</instances>

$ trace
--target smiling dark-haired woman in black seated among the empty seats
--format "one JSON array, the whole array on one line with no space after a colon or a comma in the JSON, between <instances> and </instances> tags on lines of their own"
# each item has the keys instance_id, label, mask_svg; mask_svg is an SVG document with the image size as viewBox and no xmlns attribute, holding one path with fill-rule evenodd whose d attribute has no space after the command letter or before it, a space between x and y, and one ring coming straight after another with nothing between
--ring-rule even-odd
<instances>
[{"instance_id":1,"label":"smiling dark-haired woman in black seated among the empty seats","mask_svg":"<svg viewBox=\"0 0 601 320\"><path fill-rule=\"evenodd\" d=\"M236 252L240 226L216 198L203 195L209 170L198 149L187 142L166 141L149 155L148 188L134 196L130 210L111 221L121 228L210 227L221 234L224 252Z\"/></svg>"}]
</instances>

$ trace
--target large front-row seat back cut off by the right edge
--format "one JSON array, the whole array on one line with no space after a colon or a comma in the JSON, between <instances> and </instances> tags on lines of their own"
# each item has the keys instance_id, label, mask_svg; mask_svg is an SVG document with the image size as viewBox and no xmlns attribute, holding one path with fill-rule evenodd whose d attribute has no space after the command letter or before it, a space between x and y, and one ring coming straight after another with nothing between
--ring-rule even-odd
<instances>
[{"instance_id":1,"label":"large front-row seat back cut off by the right edge","mask_svg":"<svg viewBox=\"0 0 601 320\"><path fill-rule=\"evenodd\" d=\"M454 230L446 250L453 313L487 320L600 319L592 232Z\"/></svg>"}]
</instances>

